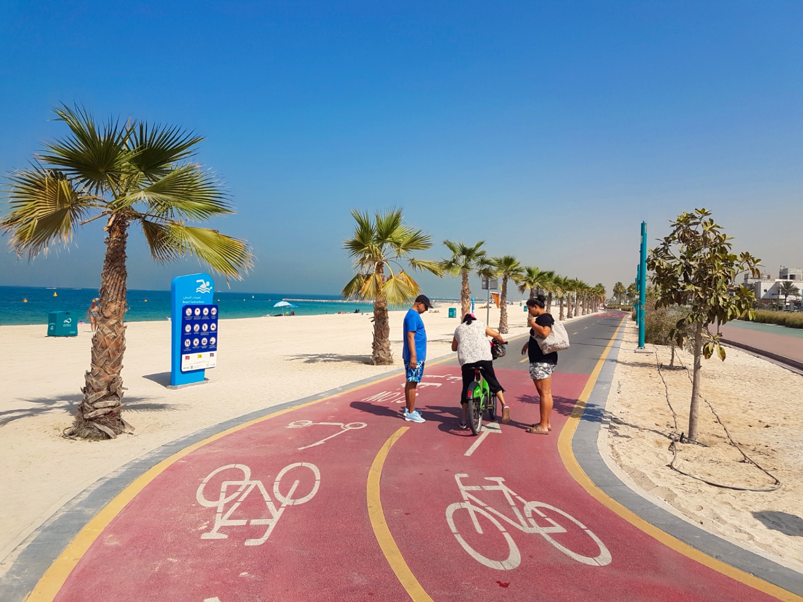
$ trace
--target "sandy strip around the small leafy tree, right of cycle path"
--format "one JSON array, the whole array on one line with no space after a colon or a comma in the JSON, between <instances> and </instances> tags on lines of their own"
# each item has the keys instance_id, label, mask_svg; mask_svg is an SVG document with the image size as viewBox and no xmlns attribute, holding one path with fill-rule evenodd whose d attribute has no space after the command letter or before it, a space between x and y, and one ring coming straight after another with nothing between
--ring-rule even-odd
<instances>
[{"instance_id":1,"label":"sandy strip around the small leafy tree, right of cycle path","mask_svg":"<svg viewBox=\"0 0 803 602\"><path fill-rule=\"evenodd\" d=\"M675 466L725 485L771 486L772 478L743 462L727 428L744 453L782 483L771 492L724 489L667 466L675 421L687 431L690 371L665 368L669 348L648 345L652 353L634 353L637 341L629 322L607 405L610 427L601 430L601 449L616 472L676 515L803 571L803 376L736 348L728 348L724 362L703 360L701 394L708 403L700 403L699 441L708 447L680 445ZM690 366L692 358L680 352L679 360Z\"/></svg>"}]
</instances>

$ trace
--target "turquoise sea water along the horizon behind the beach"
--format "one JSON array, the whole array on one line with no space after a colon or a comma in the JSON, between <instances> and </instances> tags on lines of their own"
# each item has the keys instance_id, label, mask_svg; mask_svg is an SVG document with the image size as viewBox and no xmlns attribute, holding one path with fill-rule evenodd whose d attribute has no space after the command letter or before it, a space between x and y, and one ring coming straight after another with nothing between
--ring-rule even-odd
<instances>
[{"instance_id":1,"label":"turquoise sea water along the horizon behind the beach","mask_svg":"<svg viewBox=\"0 0 803 602\"><path fill-rule=\"evenodd\" d=\"M56 296L53 295L56 294ZM0 325L46 324L51 311L75 311L79 319L86 319L86 312L98 291L92 288L39 288L0 287ZM215 292L215 303L220 307L220 317L257 318L281 313L274 303L284 298L317 299L318 302L296 302L296 315L336 314L338 311L353 313L373 311L370 303L336 303L338 295L304 295L300 293L232 293ZM27 302L25 301L27 299ZM335 303L324 303L334 301ZM128 291L128 322L167 319L170 315L170 291ZM289 311L289 310L286 310Z\"/></svg>"}]
</instances>

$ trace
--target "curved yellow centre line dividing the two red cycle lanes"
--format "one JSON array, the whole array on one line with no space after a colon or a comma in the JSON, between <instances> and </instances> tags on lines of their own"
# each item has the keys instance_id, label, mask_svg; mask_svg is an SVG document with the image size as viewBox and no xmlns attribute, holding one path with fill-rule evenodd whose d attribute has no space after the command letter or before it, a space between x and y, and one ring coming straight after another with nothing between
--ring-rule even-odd
<instances>
[{"instance_id":1,"label":"curved yellow centre line dividing the two red cycle lanes","mask_svg":"<svg viewBox=\"0 0 803 602\"><path fill-rule=\"evenodd\" d=\"M382 476L382 466L385 466L385 458L388 457L388 452L393 444L399 440L406 433L409 426L402 426L393 433L385 445L382 445L377 452L377 457L373 458L373 464L368 471L368 486L366 487L366 497L368 498L368 515L371 519L371 527L373 527L373 535L376 536L379 547L382 549L382 554L385 555L390 568L396 574L396 578L402 587L405 588L410 600L413 602L433 602L429 594L424 591L421 584L410 571L410 567L402 556L402 551L393 540L393 535L390 533L388 523L385 521L385 512L382 510L382 501L379 496L379 482Z\"/></svg>"}]
</instances>

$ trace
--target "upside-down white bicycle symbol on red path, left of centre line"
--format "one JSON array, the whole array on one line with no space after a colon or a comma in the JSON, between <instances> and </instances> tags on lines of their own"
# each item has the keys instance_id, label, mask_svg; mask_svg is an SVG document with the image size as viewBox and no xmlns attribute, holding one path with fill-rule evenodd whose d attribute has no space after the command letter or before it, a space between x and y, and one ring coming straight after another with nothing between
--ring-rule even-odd
<instances>
[{"instance_id":1,"label":"upside-down white bicycle symbol on red path, left of centre line","mask_svg":"<svg viewBox=\"0 0 803 602\"><path fill-rule=\"evenodd\" d=\"M287 495L282 495L279 491L279 482L281 482L283 476L293 470L294 468L307 468L312 470L312 474L315 476L315 485L312 486L312 490L306 494L303 498L293 498L293 494L296 493L296 488L299 486L300 481L296 479L293 482L290 490L287 492ZM240 470L243 474L243 478L238 479L236 481L223 481L220 484L220 494L218 495L217 499L210 500L206 499L204 496L204 487L210 481L211 478L214 477L215 474L222 472L223 470ZM243 525L251 524L251 525L267 525L267 530L265 531L264 535L259 538L255 539L246 539L245 545L247 546L259 546L262 543L267 541L267 538L271 536L271 532L273 528L276 526L276 523L279 522L281 518L285 506L298 506L299 504L303 504L305 502L309 502L315 494L318 492L318 487L320 486L320 470L314 464L309 464L308 462L296 462L295 464L289 464L285 466L279 474L276 475L276 479L273 482L273 495L274 497L281 502L281 506L277 509L273 500L271 500L271 496L267 494L267 490L263 485L262 481L259 480L252 480L251 479L251 469L244 464L227 464L226 466L221 466L218 469L213 470L198 486L198 491L195 492L195 498L198 500L198 503L202 506L206 506L207 508L217 508L217 513L214 515L214 527L212 530L207 533L202 533L201 539L227 539L228 535L225 533L220 533L218 530L222 527L243 527ZM231 488L234 488L231 492ZM248 494L251 494L251 491L254 489L258 489L259 493L262 495L262 498L265 502L265 506L267 506L267 511L271 515L269 519L230 519L234 510L242 504L245 499L248 497ZM226 511L226 504L229 502L234 502L231 504L230 508Z\"/></svg>"}]
</instances>

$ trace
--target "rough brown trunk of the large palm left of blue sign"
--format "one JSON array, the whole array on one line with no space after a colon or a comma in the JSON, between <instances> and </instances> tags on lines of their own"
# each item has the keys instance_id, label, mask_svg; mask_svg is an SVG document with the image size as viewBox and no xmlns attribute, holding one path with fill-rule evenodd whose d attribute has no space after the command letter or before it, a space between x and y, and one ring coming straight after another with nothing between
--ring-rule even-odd
<instances>
[{"instance_id":1,"label":"rough brown trunk of the large palm left of blue sign","mask_svg":"<svg viewBox=\"0 0 803 602\"><path fill-rule=\"evenodd\" d=\"M125 352L125 296L128 272L125 246L128 218L112 215L105 228L106 257L100 276L100 315L92 336L92 360L70 433L86 438L116 437L129 425L120 416L123 409L123 354ZM105 433L105 434L103 434Z\"/></svg>"}]
</instances>

